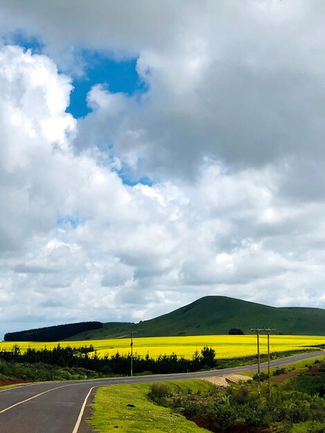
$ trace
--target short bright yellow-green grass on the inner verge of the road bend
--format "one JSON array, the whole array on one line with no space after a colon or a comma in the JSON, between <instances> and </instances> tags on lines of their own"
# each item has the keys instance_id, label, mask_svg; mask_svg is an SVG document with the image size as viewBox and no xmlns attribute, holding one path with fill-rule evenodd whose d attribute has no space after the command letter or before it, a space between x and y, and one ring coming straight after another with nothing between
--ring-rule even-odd
<instances>
[{"instance_id":1,"label":"short bright yellow-green grass on the inner verge of the road bend","mask_svg":"<svg viewBox=\"0 0 325 433\"><path fill-rule=\"evenodd\" d=\"M155 405L147 398L152 383L135 385L112 385L100 388L93 405L93 416L89 424L100 433L115 431L125 433L199 433L207 430L187 421L184 416L174 414L167 407ZM172 391L202 394L214 387L205 380L176 380L166 385ZM133 404L136 407L127 407Z\"/></svg>"}]
</instances>

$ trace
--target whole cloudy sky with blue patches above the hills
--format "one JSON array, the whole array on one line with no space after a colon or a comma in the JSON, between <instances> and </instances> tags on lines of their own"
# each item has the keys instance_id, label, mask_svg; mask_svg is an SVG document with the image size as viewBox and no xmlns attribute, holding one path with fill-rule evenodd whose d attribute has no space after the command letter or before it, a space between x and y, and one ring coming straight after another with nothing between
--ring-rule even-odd
<instances>
[{"instance_id":1,"label":"whole cloudy sky with blue patches above the hills","mask_svg":"<svg viewBox=\"0 0 325 433\"><path fill-rule=\"evenodd\" d=\"M325 308L324 19L2 1L0 336L205 295Z\"/></svg>"}]
</instances>

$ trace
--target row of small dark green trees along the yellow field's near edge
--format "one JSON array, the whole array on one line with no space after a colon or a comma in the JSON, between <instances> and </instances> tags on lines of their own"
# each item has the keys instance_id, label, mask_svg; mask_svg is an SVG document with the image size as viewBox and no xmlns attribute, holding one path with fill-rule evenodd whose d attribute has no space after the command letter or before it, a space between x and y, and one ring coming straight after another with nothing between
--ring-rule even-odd
<instances>
[{"instance_id":1,"label":"row of small dark green trees along the yellow field's near edge","mask_svg":"<svg viewBox=\"0 0 325 433\"><path fill-rule=\"evenodd\" d=\"M61 347L59 344L53 349L30 349L21 353L19 346L15 344L12 351L0 351L0 360L6 362L27 362L30 364L44 362L48 365L60 367L82 367L106 375L124 375L130 373L131 355L120 355L100 358L93 347ZM133 373L141 374L145 371L152 374L185 373L216 367L215 351L204 347L199 353L196 351L192 359L178 358L176 353L150 358L149 353L142 356L133 356Z\"/></svg>"}]
</instances>

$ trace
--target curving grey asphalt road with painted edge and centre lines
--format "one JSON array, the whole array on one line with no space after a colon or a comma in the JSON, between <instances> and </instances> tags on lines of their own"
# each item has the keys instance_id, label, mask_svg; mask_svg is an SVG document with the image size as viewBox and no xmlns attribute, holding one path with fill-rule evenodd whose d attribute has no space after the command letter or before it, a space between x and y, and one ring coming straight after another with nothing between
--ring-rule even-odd
<instances>
[{"instance_id":1,"label":"curving grey asphalt road with painted edge and centre lines","mask_svg":"<svg viewBox=\"0 0 325 433\"><path fill-rule=\"evenodd\" d=\"M324 355L324 352L304 353L271 361L271 366L280 367L321 355ZM266 362L261 364L261 368L267 368ZM97 387L223 376L256 369L257 365L248 365L197 373L34 383L5 389L0 391L0 433L89 433L91 430L84 422L86 403Z\"/></svg>"}]
</instances>

